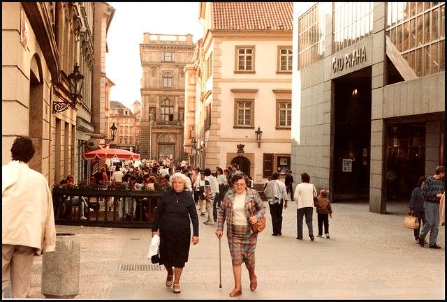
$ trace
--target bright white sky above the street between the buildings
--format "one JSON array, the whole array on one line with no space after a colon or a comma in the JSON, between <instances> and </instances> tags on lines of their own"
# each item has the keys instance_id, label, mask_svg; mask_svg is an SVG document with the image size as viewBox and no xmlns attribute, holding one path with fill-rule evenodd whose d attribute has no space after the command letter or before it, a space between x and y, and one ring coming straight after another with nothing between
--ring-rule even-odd
<instances>
[{"instance_id":1,"label":"bright white sky above the street between the buildings","mask_svg":"<svg viewBox=\"0 0 447 302\"><path fill-rule=\"evenodd\" d=\"M313 2L300 4L304 12ZM107 33L108 54L105 73L115 84L110 100L131 109L135 100L141 103L140 43L143 33L185 35L191 33L193 42L203 37L198 21L199 2L108 2L115 15Z\"/></svg>"}]
</instances>

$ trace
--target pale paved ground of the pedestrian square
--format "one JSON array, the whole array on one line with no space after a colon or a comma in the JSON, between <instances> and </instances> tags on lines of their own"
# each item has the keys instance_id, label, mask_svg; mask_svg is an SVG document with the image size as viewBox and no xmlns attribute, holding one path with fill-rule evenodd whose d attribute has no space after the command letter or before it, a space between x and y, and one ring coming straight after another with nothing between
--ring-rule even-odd
<instances>
[{"instance_id":1,"label":"pale paved ground of the pedestrian square","mask_svg":"<svg viewBox=\"0 0 447 302\"><path fill-rule=\"evenodd\" d=\"M267 203L265 203L268 206ZM388 214L369 212L367 203L336 203L330 219L330 239L303 241L296 237L296 206L284 210L283 236L270 236L268 225L258 236L258 289L249 290L242 268L239 299L444 299L445 227L439 227L441 250L421 248L413 231L402 227L406 204L388 204ZM219 241L215 226L203 225L200 242L191 245L180 285L173 294L164 285L166 272L121 271L120 264L150 264L146 259L149 229L57 226L57 232L80 234L80 294L75 299L230 299L233 273L226 237ZM317 234L314 211L314 235ZM30 298L41 294L42 257L35 257Z\"/></svg>"}]
</instances>

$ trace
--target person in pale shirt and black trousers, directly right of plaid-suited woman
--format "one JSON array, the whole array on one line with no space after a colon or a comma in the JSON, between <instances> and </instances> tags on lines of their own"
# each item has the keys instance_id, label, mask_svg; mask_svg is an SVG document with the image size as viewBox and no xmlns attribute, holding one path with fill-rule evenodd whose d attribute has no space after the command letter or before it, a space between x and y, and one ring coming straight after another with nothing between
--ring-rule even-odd
<instances>
[{"instance_id":1,"label":"person in pale shirt and black trousers, directly right of plaid-suited woman","mask_svg":"<svg viewBox=\"0 0 447 302\"><path fill-rule=\"evenodd\" d=\"M287 209L288 197L286 184L279 180L279 173L273 173L272 180L265 186L265 197L267 197L272 216L272 236L281 236L282 227L282 209Z\"/></svg>"}]
</instances>

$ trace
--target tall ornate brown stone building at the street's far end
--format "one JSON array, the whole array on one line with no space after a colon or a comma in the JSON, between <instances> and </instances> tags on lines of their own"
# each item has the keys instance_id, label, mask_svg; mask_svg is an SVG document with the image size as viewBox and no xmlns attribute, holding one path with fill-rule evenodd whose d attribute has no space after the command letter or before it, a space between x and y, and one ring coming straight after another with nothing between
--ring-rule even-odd
<instances>
[{"instance_id":1,"label":"tall ornate brown stone building at the street's far end","mask_svg":"<svg viewBox=\"0 0 447 302\"><path fill-rule=\"evenodd\" d=\"M144 33L140 44L141 158L187 159L183 150L184 66L192 62L192 35Z\"/></svg>"}]
</instances>

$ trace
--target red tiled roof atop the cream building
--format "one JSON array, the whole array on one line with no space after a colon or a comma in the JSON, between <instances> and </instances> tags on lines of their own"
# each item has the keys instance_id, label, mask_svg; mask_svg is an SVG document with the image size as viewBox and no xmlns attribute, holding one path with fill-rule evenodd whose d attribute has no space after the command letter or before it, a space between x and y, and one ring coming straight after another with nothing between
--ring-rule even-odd
<instances>
[{"instance_id":1,"label":"red tiled roof atop the cream building","mask_svg":"<svg viewBox=\"0 0 447 302\"><path fill-rule=\"evenodd\" d=\"M292 30L292 2L212 2L213 29Z\"/></svg>"}]
</instances>

